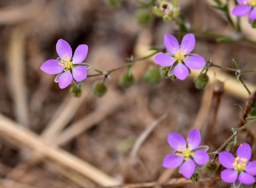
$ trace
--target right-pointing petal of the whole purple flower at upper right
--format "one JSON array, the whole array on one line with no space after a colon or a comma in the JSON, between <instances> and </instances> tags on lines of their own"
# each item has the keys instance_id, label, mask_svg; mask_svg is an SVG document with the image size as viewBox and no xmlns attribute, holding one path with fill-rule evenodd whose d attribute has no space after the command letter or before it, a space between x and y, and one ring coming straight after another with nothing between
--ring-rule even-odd
<instances>
[{"instance_id":1,"label":"right-pointing petal of the whole purple flower at upper right","mask_svg":"<svg viewBox=\"0 0 256 188\"><path fill-rule=\"evenodd\" d=\"M193 70L198 70L206 65L204 58L200 55L192 55L188 58L183 59L185 65Z\"/></svg>"}]
</instances>

